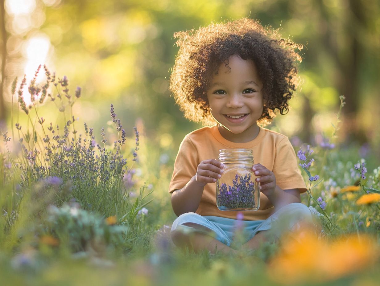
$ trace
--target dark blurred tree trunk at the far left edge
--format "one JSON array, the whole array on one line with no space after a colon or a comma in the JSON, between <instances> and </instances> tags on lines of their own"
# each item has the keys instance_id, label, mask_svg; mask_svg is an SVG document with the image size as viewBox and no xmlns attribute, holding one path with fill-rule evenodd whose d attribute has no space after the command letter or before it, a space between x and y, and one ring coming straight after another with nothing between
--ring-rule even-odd
<instances>
[{"instance_id":1,"label":"dark blurred tree trunk at the far left edge","mask_svg":"<svg viewBox=\"0 0 380 286\"><path fill-rule=\"evenodd\" d=\"M4 90L5 90L5 63L6 63L6 41L8 40L8 35L5 30L5 0L0 0L0 33L1 33L1 82L0 82L0 122L5 123L6 110L5 110L5 100L4 100Z\"/></svg>"}]
</instances>

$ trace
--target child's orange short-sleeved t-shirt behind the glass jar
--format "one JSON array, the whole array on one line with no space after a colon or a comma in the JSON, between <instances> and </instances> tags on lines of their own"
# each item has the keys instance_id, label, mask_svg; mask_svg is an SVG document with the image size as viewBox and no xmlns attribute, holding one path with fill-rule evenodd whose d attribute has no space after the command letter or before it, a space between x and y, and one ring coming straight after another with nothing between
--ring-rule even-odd
<instances>
[{"instance_id":1,"label":"child's orange short-sleeved t-shirt behind the glass jar","mask_svg":"<svg viewBox=\"0 0 380 286\"><path fill-rule=\"evenodd\" d=\"M222 137L217 125L214 125L195 130L182 140L174 162L169 193L183 188L196 174L201 161L218 160L219 150L229 148L252 149L254 163L260 163L271 170L277 185L283 190L299 189L300 193L307 190L298 168L296 153L287 136L260 127L260 132L252 141L234 143ZM236 211L218 209L215 188L215 183L208 183L204 187L196 213L236 219ZM273 211L269 199L260 193L260 208L257 211L245 211L244 220L265 220Z\"/></svg>"}]
</instances>

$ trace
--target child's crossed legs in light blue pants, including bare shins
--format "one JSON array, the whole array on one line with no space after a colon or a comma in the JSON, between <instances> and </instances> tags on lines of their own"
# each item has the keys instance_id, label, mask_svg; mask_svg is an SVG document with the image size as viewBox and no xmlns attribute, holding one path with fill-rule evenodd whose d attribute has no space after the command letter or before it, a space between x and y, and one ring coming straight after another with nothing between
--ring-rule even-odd
<instances>
[{"instance_id":1,"label":"child's crossed legs in light blue pants, including bare shins","mask_svg":"<svg viewBox=\"0 0 380 286\"><path fill-rule=\"evenodd\" d=\"M173 223L171 237L174 244L180 248L186 246L194 251L209 250L215 253L215 249L222 253L238 253L230 247L236 230L236 224L242 223L244 231L248 234L245 249L255 250L261 243L267 240L266 234L273 227L278 218L287 218L284 229L276 230L279 237L283 231L289 231L304 221L314 225L312 215L306 205L301 203L288 204L272 214L267 220L237 221L230 218L217 216L201 216L196 213L184 213ZM276 226L285 224L277 224Z\"/></svg>"}]
</instances>

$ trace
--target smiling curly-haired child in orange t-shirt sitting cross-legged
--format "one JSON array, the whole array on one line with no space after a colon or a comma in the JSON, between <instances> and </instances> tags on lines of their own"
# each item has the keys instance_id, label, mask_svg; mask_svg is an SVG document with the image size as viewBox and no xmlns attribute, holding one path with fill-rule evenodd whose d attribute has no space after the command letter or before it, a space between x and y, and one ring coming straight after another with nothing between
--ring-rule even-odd
<instances>
[{"instance_id":1,"label":"smiling curly-haired child in orange t-shirt sitting cross-legged","mask_svg":"<svg viewBox=\"0 0 380 286\"><path fill-rule=\"evenodd\" d=\"M301 204L306 185L288 137L258 125L268 124L288 111L296 90L296 49L258 21L248 18L177 32L180 47L170 76L170 89L185 117L205 126L185 136L180 144L169 184L175 245L195 251L236 252L233 242L236 215L216 206L215 182L223 174L216 160L220 149L249 148L252 170L260 182L260 209L244 212L249 234L245 248L256 249L280 216L291 215L288 228L301 218L311 221Z\"/></svg>"}]
</instances>

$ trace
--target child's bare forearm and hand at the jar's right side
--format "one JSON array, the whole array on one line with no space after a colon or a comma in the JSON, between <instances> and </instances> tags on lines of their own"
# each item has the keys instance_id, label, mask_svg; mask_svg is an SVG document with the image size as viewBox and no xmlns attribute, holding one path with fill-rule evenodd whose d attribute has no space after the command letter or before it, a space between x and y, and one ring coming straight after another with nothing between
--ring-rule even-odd
<instances>
[{"instance_id":1,"label":"child's bare forearm and hand at the jar's right side","mask_svg":"<svg viewBox=\"0 0 380 286\"><path fill-rule=\"evenodd\" d=\"M256 182L260 182L260 191L268 197L276 210L292 202L301 202L301 196L297 189L282 190L276 185L273 172L263 165L255 164L252 166L252 170L255 175L261 176L256 178Z\"/></svg>"}]
</instances>

